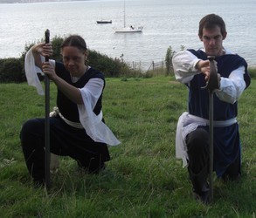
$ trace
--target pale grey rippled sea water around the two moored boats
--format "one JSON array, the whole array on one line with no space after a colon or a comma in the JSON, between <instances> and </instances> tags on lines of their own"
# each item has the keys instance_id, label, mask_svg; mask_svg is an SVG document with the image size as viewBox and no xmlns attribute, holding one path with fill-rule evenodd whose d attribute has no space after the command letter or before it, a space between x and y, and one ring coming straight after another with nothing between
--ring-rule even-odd
<instances>
[{"instance_id":1,"label":"pale grey rippled sea water around the two moored boats","mask_svg":"<svg viewBox=\"0 0 256 218\"><path fill-rule=\"evenodd\" d=\"M143 26L142 33L115 33L125 21ZM198 49L198 22L209 13L223 17L224 46L256 66L256 3L253 0L122 0L0 4L0 58L17 58L25 44L38 42L49 29L51 37L80 34L89 49L126 62L165 58L173 51ZM112 24L96 24L111 19Z\"/></svg>"}]
</instances>

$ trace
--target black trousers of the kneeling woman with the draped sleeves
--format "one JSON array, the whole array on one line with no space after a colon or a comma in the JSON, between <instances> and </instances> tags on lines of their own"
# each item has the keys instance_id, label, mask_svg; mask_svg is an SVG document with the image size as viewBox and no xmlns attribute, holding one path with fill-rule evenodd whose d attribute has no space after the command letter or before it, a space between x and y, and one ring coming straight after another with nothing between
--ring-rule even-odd
<instances>
[{"instance_id":1,"label":"black trousers of the kneeling woman with the draped sleeves","mask_svg":"<svg viewBox=\"0 0 256 218\"><path fill-rule=\"evenodd\" d=\"M45 180L45 119L30 119L20 133L24 160L34 181ZM97 173L110 160L107 145L94 142L84 129L68 126L59 117L50 118L50 150L77 160L89 173Z\"/></svg>"}]
</instances>

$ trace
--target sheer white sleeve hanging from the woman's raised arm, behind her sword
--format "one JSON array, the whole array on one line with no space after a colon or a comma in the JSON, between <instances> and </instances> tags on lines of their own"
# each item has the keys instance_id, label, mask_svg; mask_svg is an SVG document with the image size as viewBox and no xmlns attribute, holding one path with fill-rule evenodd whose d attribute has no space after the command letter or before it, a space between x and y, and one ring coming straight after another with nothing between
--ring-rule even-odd
<instances>
[{"instance_id":1,"label":"sheer white sleeve hanging from the woman's raised arm, behind her sword","mask_svg":"<svg viewBox=\"0 0 256 218\"><path fill-rule=\"evenodd\" d=\"M44 61L44 57L41 56L42 62ZM55 65L54 60L49 60L51 65ZM39 95L44 95L45 92L43 90L43 87L40 83L40 80L38 78L38 73L41 73L43 75L43 72L41 71L38 66L35 65L35 58L32 54L32 50L30 49L27 51L25 58L24 58L24 71L25 71L25 76L28 81L28 85L32 85L36 87L38 94Z\"/></svg>"}]
</instances>

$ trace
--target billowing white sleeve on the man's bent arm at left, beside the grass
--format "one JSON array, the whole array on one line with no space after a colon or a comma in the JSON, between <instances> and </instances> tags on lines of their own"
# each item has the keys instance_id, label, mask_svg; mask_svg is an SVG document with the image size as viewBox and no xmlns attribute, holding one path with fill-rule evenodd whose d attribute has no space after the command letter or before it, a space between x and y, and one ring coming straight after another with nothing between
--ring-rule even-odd
<instances>
[{"instance_id":1,"label":"billowing white sleeve on the man's bent arm at left, beside the grass","mask_svg":"<svg viewBox=\"0 0 256 218\"><path fill-rule=\"evenodd\" d=\"M193 55L190 51L180 51L172 58L172 65L176 80L183 84L190 80L200 72L197 71L196 65L200 59Z\"/></svg>"}]
</instances>

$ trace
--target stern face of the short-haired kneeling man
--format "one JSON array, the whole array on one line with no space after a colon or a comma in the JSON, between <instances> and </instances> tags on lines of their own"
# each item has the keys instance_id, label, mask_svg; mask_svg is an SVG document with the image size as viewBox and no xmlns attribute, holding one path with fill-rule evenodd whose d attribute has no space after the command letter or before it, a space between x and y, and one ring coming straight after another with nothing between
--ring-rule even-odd
<instances>
[{"instance_id":1,"label":"stern face of the short-haired kneeling man","mask_svg":"<svg viewBox=\"0 0 256 218\"><path fill-rule=\"evenodd\" d=\"M215 26L211 29L203 29L203 35L199 36L204 43L204 49L208 56L220 56L223 55L222 42L226 37L221 34L220 27Z\"/></svg>"}]
</instances>

